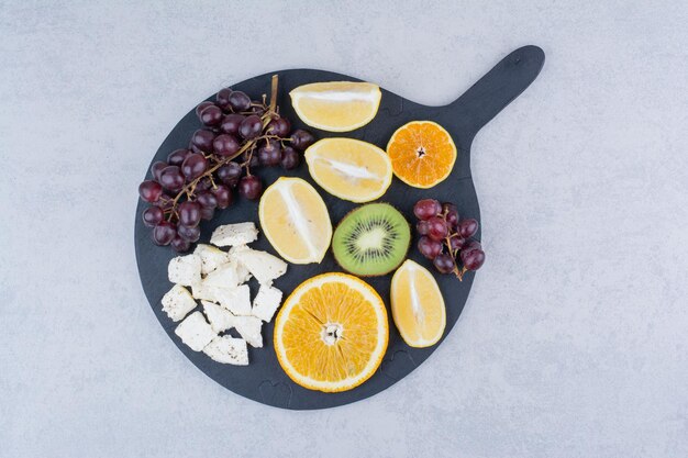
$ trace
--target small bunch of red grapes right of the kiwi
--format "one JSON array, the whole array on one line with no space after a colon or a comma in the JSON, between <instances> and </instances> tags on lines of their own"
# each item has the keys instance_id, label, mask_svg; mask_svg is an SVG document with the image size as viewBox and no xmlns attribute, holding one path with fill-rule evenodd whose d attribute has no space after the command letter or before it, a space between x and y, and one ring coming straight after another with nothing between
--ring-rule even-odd
<instances>
[{"instance_id":1,"label":"small bunch of red grapes right of the kiwi","mask_svg":"<svg viewBox=\"0 0 688 458\"><path fill-rule=\"evenodd\" d=\"M418 249L440 272L454 272L460 280L467 270L478 270L482 266L482 246L470 238L478 232L476 220L462 220L456 205L441 204L434 199L419 200L413 205L413 213L420 220L415 225L421 235Z\"/></svg>"}]
</instances>

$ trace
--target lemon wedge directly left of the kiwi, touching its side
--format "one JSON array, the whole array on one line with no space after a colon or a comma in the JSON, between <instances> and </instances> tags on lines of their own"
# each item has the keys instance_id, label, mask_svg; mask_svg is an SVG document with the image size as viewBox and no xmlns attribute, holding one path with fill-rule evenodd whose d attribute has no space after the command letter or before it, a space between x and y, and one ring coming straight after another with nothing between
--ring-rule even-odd
<instances>
[{"instance_id":1,"label":"lemon wedge directly left of the kiwi, touching its side","mask_svg":"<svg viewBox=\"0 0 688 458\"><path fill-rule=\"evenodd\" d=\"M265 236L279 255L293 264L320 262L332 238L325 202L300 178L279 178L258 204Z\"/></svg>"}]
</instances>

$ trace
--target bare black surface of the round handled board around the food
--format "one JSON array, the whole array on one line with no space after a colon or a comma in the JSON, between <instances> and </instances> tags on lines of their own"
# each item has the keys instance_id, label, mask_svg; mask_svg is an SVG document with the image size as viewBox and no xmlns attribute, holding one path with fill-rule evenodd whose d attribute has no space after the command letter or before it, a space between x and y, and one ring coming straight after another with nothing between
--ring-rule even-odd
<instances>
[{"instance_id":1,"label":"bare black surface of the round handled board around the food","mask_svg":"<svg viewBox=\"0 0 688 458\"><path fill-rule=\"evenodd\" d=\"M315 134L317 138L347 136L374 143L385 149L391 134L409 121L431 120L440 123L450 132L458 149L452 175L440 185L428 190L411 188L395 178L387 193L379 201L393 204L411 223L414 223L413 203L422 198L435 198L440 201L454 202L458 206L462 216L475 217L480 221L480 209L470 175L470 144L480 127L515 99L535 79L543 64L544 53L541 48L536 46L521 47L504 57L456 101L445 107L421 105L382 89L382 100L377 116L364 127L348 133L329 133L303 125L291 109L288 93L297 86L308 82L358 81L356 78L331 71L295 69L270 71L233 85L232 88L246 92L252 99L258 99L263 93L269 94L270 77L279 75L278 104L280 112L289 118L296 127L310 130ZM208 100L212 99L214 99L214 94ZM165 160L167 155L174 149L187 147L191 134L200 126L201 124L195 111L191 110L165 138L153 161ZM310 178L304 163L292 171L285 172L278 167L259 171L265 187L269 186L281 175L301 177L313 185L330 209L333 225L336 225L349 210L357 206L355 203L340 200L322 190ZM147 171L145 177L149 179L151 172ZM391 313L389 313L389 346L377 372L362 386L351 391L342 393L311 391L293 383L277 362L273 348L273 323L264 325L264 347L249 347L248 356L251 364L247 367L214 362L203 353L196 353L181 343L174 333L176 323L167 317L160 306L163 294L171 288L171 283L167 280L167 265L176 255L171 248L155 246L151 241L151 230L145 227L141 220L141 213L145 208L146 204L143 202L140 202L136 208L136 261L143 289L163 328L181 353L218 383L237 394L277 407L293 410L333 407L371 396L401 380L420 366L452 331L466 303L474 280L474 272L468 272L463 282L452 275L435 275L446 303L446 329L439 344L431 348L409 347L399 336L393 322L391 322ZM235 203L232 206L217 212L212 221L201 223L200 242L208 243L213 228L222 224L244 221L255 221L256 224L259 224L257 209L257 202L235 199ZM479 232L476 237L480 239ZM418 253L415 248L417 241L418 236L414 234L409 257L434 271L430 261L422 258ZM252 247L276 254L264 236L259 236L258 241L252 244ZM489 262L489 246L486 247L486 250ZM290 265L287 273L275 281L275 286L284 291L285 297L287 297L303 280L329 271L341 271L334 261L331 250L320 265ZM390 280L391 273L366 279L379 292L388 310Z\"/></svg>"}]
</instances>

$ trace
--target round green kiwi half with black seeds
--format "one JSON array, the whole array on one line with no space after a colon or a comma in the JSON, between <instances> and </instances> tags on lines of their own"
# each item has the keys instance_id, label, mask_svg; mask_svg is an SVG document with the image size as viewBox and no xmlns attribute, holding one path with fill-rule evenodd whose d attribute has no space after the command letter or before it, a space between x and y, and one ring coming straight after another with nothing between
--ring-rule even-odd
<instances>
[{"instance_id":1,"label":"round green kiwi half with black seeds","mask_svg":"<svg viewBox=\"0 0 688 458\"><path fill-rule=\"evenodd\" d=\"M388 203L368 203L349 212L332 237L332 252L342 268L371 277L389 273L406 258L411 242L409 223Z\"/></svg>"}]
</instances>

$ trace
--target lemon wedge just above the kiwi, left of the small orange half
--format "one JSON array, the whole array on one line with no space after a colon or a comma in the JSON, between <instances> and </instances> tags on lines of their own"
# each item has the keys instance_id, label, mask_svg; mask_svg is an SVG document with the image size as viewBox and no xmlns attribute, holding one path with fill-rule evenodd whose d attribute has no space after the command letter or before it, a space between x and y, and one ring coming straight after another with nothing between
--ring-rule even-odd
<instances>
[{"instance_id":1,"label":"lemon wedge just above the kiwi, left of the small orange half","mask_svg":"<svg viewBox=\"0 0 688 458\"><path fill-rule=\"evenodd\" d=\"M391 161L382 149L354 138L323 138L306 150L311 177L325 191L352 202L369 202L391 185Z\"/></svg>"}]
</instances>

